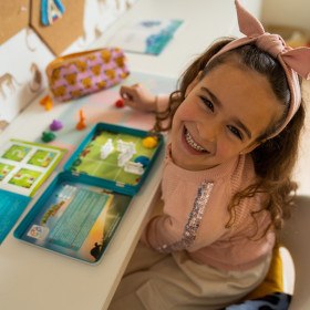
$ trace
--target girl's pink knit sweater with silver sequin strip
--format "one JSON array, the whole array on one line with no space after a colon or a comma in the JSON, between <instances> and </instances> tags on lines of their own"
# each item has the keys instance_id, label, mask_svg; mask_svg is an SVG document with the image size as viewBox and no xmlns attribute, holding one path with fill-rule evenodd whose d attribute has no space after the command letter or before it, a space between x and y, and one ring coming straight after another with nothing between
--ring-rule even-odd
<instances>
[{"instance_id":1,"label":"girl's pink knit sweater with silver sequin strip","mask_svg":"<svg viewBox=\"0 0 310 310\"><path fill-rule=\"evenodd\" d=\"M163 167L164 215L153 217L143 240L162 252L187 250L202 264L246 270L272 250L275 232L262 237L270 215L259 210L262 197L244 199L235 209L229 228L228 204L235 193L255 180L250 155L240 155L210 169L192 172L176 166L167 147Z\"/></svg>"}]
</instances>

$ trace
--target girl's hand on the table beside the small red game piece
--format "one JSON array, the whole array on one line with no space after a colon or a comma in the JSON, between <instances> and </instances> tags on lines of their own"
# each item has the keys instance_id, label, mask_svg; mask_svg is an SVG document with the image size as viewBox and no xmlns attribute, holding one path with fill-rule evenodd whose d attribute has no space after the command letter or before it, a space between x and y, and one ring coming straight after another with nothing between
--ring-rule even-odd
<instances>
[{"instance_id":1,"label":"girl's hand on the table beside the small red game piece","mask_svg":"<svg viewBox=\"0 0 310 310\"><path fill-rule=\"evenodd\" d=\"M149 90L141 83L132 86L121 86L120 94L124 101L124 104L132 108L143 112L156 111L156 96L153 95Z\"/></svg>"}]
</instances>

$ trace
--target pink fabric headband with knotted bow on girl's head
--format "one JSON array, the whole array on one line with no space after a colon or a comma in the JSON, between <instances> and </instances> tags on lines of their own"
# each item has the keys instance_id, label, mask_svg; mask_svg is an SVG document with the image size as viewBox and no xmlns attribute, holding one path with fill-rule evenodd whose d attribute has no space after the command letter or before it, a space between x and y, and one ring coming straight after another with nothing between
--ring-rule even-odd
<instances>
[{"instance_id":1,"label":"pink fabric headband with knotted bow on girl's head","mask_svg":"<svg viewBox=\"0 0 310 310\"><path fill-rule=\"evenodd\" d=\"M235 0L235 4L237 9L239 30L246 37L234 40L225 45L209 60L209 62L227 51L249 43L255 43L259 49L278 59L287 75L291 93L291 102L283 124L272 135L268 136L268 138L271 138L278 135L287 126L300 106L301 93L297 73L307 80L310 79L310 49L298 48L293 50L292 48L287 46L285 40L280 35L265 32L262 24L250 12L248 12L238 0Z\"/></svg>"}]
</instances>

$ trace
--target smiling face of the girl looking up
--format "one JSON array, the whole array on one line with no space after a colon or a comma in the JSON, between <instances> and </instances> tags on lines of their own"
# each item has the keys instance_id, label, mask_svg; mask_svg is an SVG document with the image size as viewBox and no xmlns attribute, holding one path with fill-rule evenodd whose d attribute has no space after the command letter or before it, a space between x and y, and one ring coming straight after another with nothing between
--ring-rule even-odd
<instances>
[{"instance_id":1,"label":"smiling face of the girl looking up","mask_svg":"<svg viewBox=\"0 0 310 310\"><path fill-rule=\"evenodd\" d=\"M232 63L188 86L172 126L172 157L188 170L215 167L251 152L282 108L267 79Z\"/></svg>"}]
</instances>

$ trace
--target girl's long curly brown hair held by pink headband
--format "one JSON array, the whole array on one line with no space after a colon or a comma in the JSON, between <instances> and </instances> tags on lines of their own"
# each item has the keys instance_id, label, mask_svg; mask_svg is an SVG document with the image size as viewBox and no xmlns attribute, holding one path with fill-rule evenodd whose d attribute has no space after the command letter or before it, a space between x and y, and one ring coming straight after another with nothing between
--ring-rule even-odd
<instances>
[{"instance_id":1,"label":"girl's long curly brown hair held by pink headband","mask_svg":"<svg viewBox=\"0 0 310 310\"><path fill-rule=\"evenodd\" d=\"M287 127L276 137L268 140L268 136L281 125L289 110L290 90L286 73L278 60L261 51L255 44L242 45L223 53L208 63L211 56L231 40L234 39L225 38L215 42L188 66L178 81L178 90L170 94L169 105L166 111L156 114L156 123L153 130L156 132L170 130L174 114L185 99L186 89L200 71L203 72L200 79L203 79L217 65L237 60L245 69L255 70L264 74L270 82L277 99L282 103L283 114L281 120L272 124L264 135L257 138L257 142L261 144L250 153L257 180L232 197L228 206L230 219L226 227L231 227L234 224L235 208L242 199L254 197L257 193L264 193L267 198L264 200L259 211L268 210L271 215L271 224L266 229L266 234L271 226L276 229L282 228L285 219L291 215L297 189L297 184L292 180L292 173L298 157L299 138L304 122L304 107L301 102L298 112ZM207 63L208 65L206 65ZM163 125L164 121L166 121L166 126ZM255 218L259 211L252 213L252 217Z\"/></svg>"}]
</instances>

